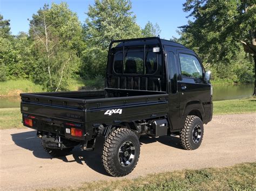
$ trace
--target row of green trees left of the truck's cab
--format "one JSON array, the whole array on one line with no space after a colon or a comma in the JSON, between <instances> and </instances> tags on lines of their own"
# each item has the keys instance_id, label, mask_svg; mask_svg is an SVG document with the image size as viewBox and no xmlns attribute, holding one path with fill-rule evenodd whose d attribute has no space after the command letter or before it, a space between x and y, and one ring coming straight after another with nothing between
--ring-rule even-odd
<instances>
[{"instance_id":1,"label":"row of green trees left of the truck's cab","mask_svg":"<svg viewBox=\"0 0 256 191\"><path fill-rule=\"evenodd\" d=\"M71 78L105 76L111 40L160 33L151 22L140 28L129 0L96 0L86 14L80 23L68 4L44 5L32 15L29 32L17 36L0 15L0 80L25 78L48 91L66 90Z\"/></svg>"}]
</instances>

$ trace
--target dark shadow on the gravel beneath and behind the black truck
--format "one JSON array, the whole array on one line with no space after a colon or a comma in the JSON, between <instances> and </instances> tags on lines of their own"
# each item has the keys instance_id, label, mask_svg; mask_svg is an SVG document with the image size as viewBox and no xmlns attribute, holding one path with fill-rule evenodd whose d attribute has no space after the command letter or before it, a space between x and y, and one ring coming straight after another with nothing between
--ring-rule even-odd
<instances>
[{"instance_id":1,"label":"dark shadow on the gravel beneath and behind the black truck","mask_svg":"<svg viewBox=\"0 0 256 191\"><path fill-rule=\"evenodd\" d=\"M11 134L12 140L15 142L15 144L19 147L28 149L33 153L34 156L40 159L52 159L52 156L50 156L48 153L46 153L41 145L41 140L36 137L36 131L30 131L30 132L24 132L24 133L16 133ZM102 162L101 162L101 153L103 148L103 141L104 139L101 138L96 142L96 148L95 151L81 151L80 147L77 146L73 149L71 152L71 155L73 156L73 159L70 159L70 157L59 157L59 160L62 160L64 162L77 162L80 165L86 164L89 168L92 170L95 170L96 172L107 175ZM147 136L142 136L140 138L140 144L151 144L152 142L160 142L161 144L165 144L167 146L171 146L174 148L181 149L181 146L179 144L179 138L177 137L160 137L160 138L150 138Z\"/></svg>"}]
</instances>

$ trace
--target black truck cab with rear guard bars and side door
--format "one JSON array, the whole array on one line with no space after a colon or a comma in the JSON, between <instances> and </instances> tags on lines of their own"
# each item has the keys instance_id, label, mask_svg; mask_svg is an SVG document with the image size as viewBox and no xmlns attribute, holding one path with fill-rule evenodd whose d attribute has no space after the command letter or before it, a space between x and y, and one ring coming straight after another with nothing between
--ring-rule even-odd
<instances>
[{"instance_id":1,"label":"black truck cab with rear guard bars and side door","mask_svg":"<svg viewBox=\"0 0 256 191\"><path fill-rule=\"evenodd\" d=\"M184 45L158 37L116 40L110 44L107 97L169 94L169 124L179 132L187 115L204 124L212 119L211 72Z\"/></svg>"}]
</instances>

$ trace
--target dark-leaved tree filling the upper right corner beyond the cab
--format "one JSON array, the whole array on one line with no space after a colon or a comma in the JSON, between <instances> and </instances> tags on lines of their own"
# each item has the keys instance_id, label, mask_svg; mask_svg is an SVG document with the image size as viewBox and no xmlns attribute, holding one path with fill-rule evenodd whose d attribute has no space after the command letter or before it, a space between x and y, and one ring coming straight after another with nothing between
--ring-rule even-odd
<instances>
[{"instance_id":1,"label":"dark-leaved tree filling the upper right corner beyond the cab","mask_svg":"<svg viewBox=\"0 0 256 191\"><path fill-rule=\"evenodd\" d=\"M255 39L255 1L187 0L184 11L193 19L181 26L181 42L195 50L206 67L214 67L219 77L239 80L241 69L235 66L251 60L241 52L240 40Z\"/></svg>"}]
</instances>

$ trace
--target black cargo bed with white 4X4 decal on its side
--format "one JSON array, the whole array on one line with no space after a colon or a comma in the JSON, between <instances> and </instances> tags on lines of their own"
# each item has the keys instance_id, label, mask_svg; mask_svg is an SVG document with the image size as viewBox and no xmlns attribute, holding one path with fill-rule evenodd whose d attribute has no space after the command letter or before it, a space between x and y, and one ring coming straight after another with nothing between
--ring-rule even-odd
<instances>
[{"instance_id":1,"label":"black cargo bed with white 4X4 decal on its side","mask_svg":"<svg viewBox=\"0 0 256 191\"><path fill-rule=\"evenodd\" d=\"M31 128L54 132L67 122L76 123L87 133L86 138L91 139L93 127L100 124L114 125L120 121L167 115L168 94L141 94L145 93L149 95L110 98L105 98L104 91L22 93L21 112L23 118L36 117L38 123Z\"/></svg>"}]
</instances>

